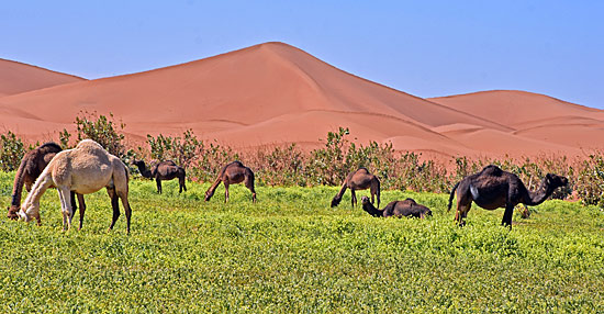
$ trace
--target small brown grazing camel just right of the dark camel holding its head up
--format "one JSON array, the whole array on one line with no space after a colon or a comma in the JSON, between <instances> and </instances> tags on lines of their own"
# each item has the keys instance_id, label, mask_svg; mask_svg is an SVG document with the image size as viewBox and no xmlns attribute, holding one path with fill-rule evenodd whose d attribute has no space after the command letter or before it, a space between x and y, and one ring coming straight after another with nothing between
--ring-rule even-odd
<instances>
[{"instance_id":1,"label":"small brown grazing camel just right of the dark camel holding its head up","mask_svg":"<svg viewBox=\"0 0 604 314\"><path fill-rule=\"evenodd\" d=\"M256 202L256 191L254 190L254 172L251 169L247 168L242 164L241 161L233 161L224 167L222 167L221 171L219 172L219 177L205 191L205 201L210 201L210 198L214 195L214 191L220 186L220 183L224 183L224 202L226 203L228 201L228 186L244 182L245 187L251 191L251 201Z\"/></svg>"}]
</instances>

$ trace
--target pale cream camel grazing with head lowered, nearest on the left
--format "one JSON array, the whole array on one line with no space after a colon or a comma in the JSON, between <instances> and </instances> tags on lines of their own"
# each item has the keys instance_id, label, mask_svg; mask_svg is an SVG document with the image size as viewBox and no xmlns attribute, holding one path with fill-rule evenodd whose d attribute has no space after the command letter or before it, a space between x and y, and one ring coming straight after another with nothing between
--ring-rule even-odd
<instances>
[{"instance_id":1,"label":"pale cream camel grazing with head lowered, nearest on the left","mask_svg":"<svg viewBox=\"0 0 604 314\"><path fill-rule=\"evenodd\" d=\"M109 154L99 143L83 139L76 148L57 153L48 162L21 205L19 216L25 222L35 218L40 225L40 199L48 188L56 187L63 212L63 229L69 229L74 217L71 202L68 201L70 192L89 194L104 187L113 208L113 220L109 229L113 228L120 216L121 199L126 213L126 231L130 234L132 210L127 201L127 183L128 172L122 160Z\"/></svg>"}]
</instances>

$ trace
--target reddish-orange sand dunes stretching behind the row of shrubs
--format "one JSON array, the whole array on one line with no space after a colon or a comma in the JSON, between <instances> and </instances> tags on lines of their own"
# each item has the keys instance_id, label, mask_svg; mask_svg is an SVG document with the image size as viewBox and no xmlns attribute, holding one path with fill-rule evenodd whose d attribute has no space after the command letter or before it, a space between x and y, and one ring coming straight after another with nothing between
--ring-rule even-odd
<instances>
[{"instance_id":1,"label":"reddish-orange sand dunes stretching behind the row of shrubs","mask_svg":"<svg viewBox=\"0 0 604 314\"><path fill-rule=\"evenodd\" d=\"M508 90L422 99L283 43L97 80L7 60L0 69L0 128L32 141L56 141L88 111L112 113L132 141L192 128L235 149L318 147L339 126L359 144L392 143L441 159L581 157L604 148L602 110Z\"/></svg>"}]
</instances>

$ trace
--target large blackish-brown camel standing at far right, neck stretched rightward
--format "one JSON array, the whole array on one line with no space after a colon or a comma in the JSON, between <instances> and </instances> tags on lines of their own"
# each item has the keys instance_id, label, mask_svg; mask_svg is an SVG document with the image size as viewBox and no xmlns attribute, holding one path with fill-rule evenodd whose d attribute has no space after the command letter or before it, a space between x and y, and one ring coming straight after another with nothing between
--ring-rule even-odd
<instances>
[{"instance_id":1,"label":"large blackish-brown camel standing at far right, neck stretched rightward","mask_svg":"<svg viewBox=\"0 0 604 314\"><path fill-rule=\"evenodd\" d=\"M528 191L521 179L511 172L503 171L497 166L490 165L480 172L467 176L451 190L448 210L451 209L455 191L457 190L457 212L455 220L463 225L472 202L485 210L505 208L502 225L512 228L512 214L518 203L538 205L543 203L553 190L567 186L564 177L547 173L536 191Z\"/></svg>"}]
</instances>

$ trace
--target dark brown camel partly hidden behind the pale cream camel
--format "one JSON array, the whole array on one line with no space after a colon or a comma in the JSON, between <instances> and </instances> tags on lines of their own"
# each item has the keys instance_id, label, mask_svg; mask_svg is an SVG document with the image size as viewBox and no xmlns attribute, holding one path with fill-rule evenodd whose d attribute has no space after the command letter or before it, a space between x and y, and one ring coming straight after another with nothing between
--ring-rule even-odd
<instances>
[{"instance_id":1,"label":"dark brown camel partly hidden behind the pale cream camel","mask_svg":"<svg viewBox=\"0 0 604 314\"><path fill-rule=\"evenodd\" d=\"M23 156L23 159L21 159L21 165L19 165L19 169L16 170L16 175L14 176L11 205L8 208L9 218L19 218L19 215L16 213L19 212L19 209L21 206L21 194L23 193L23 186L25 186L25 190L30 192L32 190L32 186L35 182L35 179L40 177L40 173L42 173L46 165L48 165L51 159L53 159L53 157L55 157L55 155L60 150L63 149L58 144L49 142L27 152ZM76 193L71 192L70 199L74 211L77 209L75 195ZM83 213L86 212L86 203L81 194L78 194L78 201L80 203L81 228L83 223Z\"/></svg>"}]
</instances>

